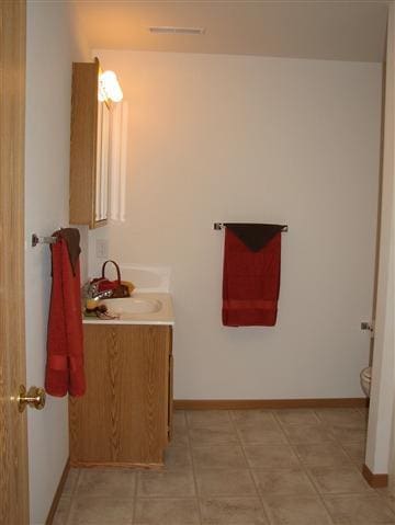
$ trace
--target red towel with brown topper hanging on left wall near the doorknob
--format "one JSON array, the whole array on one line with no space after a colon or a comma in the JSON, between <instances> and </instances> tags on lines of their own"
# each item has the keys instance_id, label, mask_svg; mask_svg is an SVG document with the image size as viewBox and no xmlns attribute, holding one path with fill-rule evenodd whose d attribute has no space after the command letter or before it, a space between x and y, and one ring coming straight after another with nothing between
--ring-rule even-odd
<instances>
[{"instance_id":1,"label":"red towel with brown topper hanging on left wall near the doorknob","mask_svg":"<svg viewBox=\"0 0 395 525\"><path fill-rule=\"evenodd\" d=\"M79 248L71 248L70 235L79 242L79 232L66 228L54 233L50 246L53 284L50 293L45 389L50 396L82 396L83 335ZM76 237L77 236L77 237ZM74 253L72 253L74 252ZM72 259L74 258L74 259Z\"/></svg>"}]
</instances>

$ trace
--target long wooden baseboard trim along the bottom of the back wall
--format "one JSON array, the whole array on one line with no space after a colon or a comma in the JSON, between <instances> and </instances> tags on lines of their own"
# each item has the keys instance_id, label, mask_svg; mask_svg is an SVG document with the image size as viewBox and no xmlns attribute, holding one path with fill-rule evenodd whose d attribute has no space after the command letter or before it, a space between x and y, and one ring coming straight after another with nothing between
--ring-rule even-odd
<instances>
[{"instance_id":1,"label":"long wooden baseboard trim along the bottom of the back wall","mask_svg":"<svg viewBox=\"0 0 395 525\"><path fill-rule=\"evenodd\" d=\"M176 410L248 410L248 409L327 409L363 408L366 398L319 399L176 399Z\"/></svg>"}]
</instances>

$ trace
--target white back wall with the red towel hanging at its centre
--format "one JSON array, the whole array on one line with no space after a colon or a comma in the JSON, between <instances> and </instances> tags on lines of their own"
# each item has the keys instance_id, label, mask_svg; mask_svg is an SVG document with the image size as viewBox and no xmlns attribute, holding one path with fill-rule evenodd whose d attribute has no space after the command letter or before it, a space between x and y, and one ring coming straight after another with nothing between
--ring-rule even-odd
<instances>
[{"instance_id":1,"label":"white back wall with the red towel hanging at its centre","mask_svg":"<svg viewBox=\"0 0 395 525\"><path fill-rule=\"evenodd\" d=\"M97 54L119 75L129 134L126 221L91 246L106 237L122 264L171 266L176 398L361 397L381 65ZM222 327L214 221L289 225L275 328Z\"/></svg>"}]
</instances>

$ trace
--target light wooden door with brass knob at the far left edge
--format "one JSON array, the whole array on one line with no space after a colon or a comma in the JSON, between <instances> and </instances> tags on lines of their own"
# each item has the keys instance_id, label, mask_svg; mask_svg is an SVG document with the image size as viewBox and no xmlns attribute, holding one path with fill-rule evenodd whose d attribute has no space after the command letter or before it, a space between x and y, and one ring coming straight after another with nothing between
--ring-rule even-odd
<instances>
[{"instance_id":1,"label":"light wooden door with brass knob at the far left edge","mask_svg":"<svg viewBox=\"0 0 395 525\"><path fill-rule=\"evenodd\" d=\"M25 1L0 2L0 523L29 523L24 345Z\"/></svg>"}]
</instances>

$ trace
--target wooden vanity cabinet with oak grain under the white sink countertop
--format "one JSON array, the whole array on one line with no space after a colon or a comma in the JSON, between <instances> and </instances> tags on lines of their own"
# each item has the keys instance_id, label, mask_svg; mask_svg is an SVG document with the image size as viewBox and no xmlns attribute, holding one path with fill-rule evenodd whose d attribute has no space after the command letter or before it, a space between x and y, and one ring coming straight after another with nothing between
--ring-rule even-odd
<instances>
[{"instance_id":1,"label":"wooden vanity cabinet with oak grain under the white sink countertop","mask_svg":"<svg viewBox=\"0 0 395 525\"><path fill-rule=\"evenodd\" d=\"M171 435L172 328L84 324L87 392L69 398L72 466L155 466Z\"/></svg>"}]
</instances>

